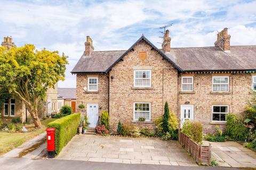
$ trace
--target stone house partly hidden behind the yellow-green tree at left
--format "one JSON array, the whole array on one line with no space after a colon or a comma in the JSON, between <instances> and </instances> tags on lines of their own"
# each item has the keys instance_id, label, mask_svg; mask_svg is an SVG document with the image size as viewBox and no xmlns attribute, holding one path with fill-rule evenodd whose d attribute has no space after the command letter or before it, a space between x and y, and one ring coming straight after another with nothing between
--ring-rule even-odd
<instances>
[{"instance_id":1,"label":"stone house partly hidden behind the yellow-green tree at left","mask_svg":"<svg viewBox=\"0 0 256 170\"><path fill-rule=\"evenodd\" d=\"M1 43L2 46L10 49L16 47L13 43L12 37L4 37L4 41ZM54 88L50 88L46 92L45 101L38 105L38 116L43 118L46 114L57 112L57 99L58 99L58 84L55 84ZM20 117L22 123L31 123L31 116L28 112L25 103L17 96L12 95L11 98L7 98L4 101L3 106L0 107L0 116L3 122L10 122L13 117Z\"/></svg>"}]
</instances>

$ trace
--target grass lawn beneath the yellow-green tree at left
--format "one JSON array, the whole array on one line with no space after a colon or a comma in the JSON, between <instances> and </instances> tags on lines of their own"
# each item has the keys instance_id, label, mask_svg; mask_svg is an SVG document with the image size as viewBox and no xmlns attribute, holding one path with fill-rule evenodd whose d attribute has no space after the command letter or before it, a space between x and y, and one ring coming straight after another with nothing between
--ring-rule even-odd
<instances>
[{"instance_id":1,"label":"grass lawn beneath the yellow-green tree at left","mask_svg":"<svg viewBox=\"0 0 256 170\"><path fill-rule=\"evenodd\" d=\"M44 133L47 124L55 120L55 118L49 118L47 120L41 121L43 126L41 129L34 129L34 124L26 125L26 128L29 130L29 132L26 133L0 132L0 155L3 155L13 148L22 145L22 143L32 139L36 135Z\"/></svg>"}]
</instances>

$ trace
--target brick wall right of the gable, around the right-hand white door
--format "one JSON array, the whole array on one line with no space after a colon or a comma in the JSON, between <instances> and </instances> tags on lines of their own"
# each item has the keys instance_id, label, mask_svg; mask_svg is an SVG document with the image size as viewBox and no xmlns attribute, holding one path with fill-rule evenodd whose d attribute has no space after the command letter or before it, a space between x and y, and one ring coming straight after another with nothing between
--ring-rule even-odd
<instances>
[{"instance_id":1,"label":"brick wall right of the gable, around the right-hand white door","mask_svg":"<svg viewBox=\"0 0 256 170\"><path fill-rule=\"evenodd\" d=\"M181 92L181 76L194 77L194 91ZM229 76L229 92L212 92L212 76ZM178 115L180 105L194 105L194 120L203 123L205 133L214 133L215 126L225 129L225 122L212 122L212 105L228 105L229 113L243 114L252 97L251 74L181 74L179 75Z\"/></svg>"}]
</instances>

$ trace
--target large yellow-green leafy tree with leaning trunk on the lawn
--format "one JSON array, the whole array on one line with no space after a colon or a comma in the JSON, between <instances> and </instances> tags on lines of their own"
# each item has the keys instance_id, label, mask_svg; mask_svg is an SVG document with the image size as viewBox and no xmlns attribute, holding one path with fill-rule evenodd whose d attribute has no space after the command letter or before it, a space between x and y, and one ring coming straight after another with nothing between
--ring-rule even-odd
<instances>
[{"instance_id":1,"label":"large yellow-green leafy tree with leaning trunk on the lawn","mask_svg":"<svg viewBox=\"0 0 256 170\"><path fill-rule=\"evenodd\" d=\"M36 50L34 45L0 47L0 88L20 98L26 105L36 128L41 128L38 103L46 91L64 80L67 56L57 51Z\"/></svg>"}]
</instances>

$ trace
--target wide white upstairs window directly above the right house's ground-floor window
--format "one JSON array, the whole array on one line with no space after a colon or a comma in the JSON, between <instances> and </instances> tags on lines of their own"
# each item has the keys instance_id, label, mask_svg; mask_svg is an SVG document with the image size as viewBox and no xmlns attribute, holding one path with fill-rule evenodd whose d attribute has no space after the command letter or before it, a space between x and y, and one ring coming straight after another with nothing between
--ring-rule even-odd
<instances>
[{"instance_id":1,"label":"wide white upstairs window directly above the right house's ground-floor window","mask_svg":"<svg viewBox=\"0 0 256 170\"><path fill-rule=\"evenodd\" d=\"M212 77L212 91L229 91L229 77Z\"/></svg>"}]
</instances>

